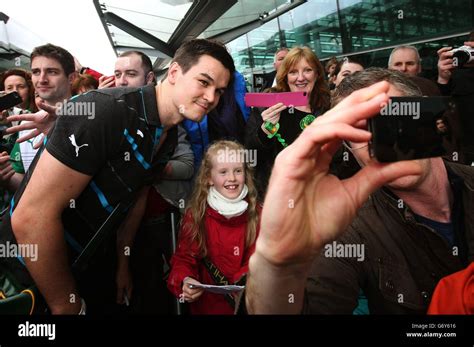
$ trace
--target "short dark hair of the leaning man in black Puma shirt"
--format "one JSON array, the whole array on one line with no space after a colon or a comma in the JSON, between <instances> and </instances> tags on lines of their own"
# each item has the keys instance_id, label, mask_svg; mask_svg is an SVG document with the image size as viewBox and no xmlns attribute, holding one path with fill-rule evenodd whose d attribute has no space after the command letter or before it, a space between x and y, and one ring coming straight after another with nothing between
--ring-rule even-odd
<instances>
[{"instance_id":1,"label":"short dark hair of the leaning man in black Puma shirt","mask_svg":"<svg viewBox=\"0 0 474 347\"><path fill-rule=\"evenodd\" d=\"M227 51L227 48L218 41L207 39L193 39L181 45L176 51L172 63L176 62L181 66L183 73L186 73L191 67L197 64L199 58L203 55L209 55L221 62L229 70L229 84L232 81L235 72L234 59Z\"/></svg>"}]
</instances>

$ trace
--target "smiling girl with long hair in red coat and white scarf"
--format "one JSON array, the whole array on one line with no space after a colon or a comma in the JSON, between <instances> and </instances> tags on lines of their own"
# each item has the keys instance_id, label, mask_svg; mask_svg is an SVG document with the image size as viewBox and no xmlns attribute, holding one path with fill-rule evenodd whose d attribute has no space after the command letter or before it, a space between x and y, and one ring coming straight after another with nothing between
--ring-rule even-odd
<instances>
[{"instance_id":1,"label":"smiling girl with long hair in red coat and white scarf","mask_svg":"<svg viewBox=\"0 0 474 347\"><path fill-rule=\"evenodd\" d=\"M244 147L232 141L209 147L181 223L168 288L190 303L191 314L233 314L232 295L192 284L237 283L255 250L261 208L244 154Z\"/></svg>"}]
</instances>

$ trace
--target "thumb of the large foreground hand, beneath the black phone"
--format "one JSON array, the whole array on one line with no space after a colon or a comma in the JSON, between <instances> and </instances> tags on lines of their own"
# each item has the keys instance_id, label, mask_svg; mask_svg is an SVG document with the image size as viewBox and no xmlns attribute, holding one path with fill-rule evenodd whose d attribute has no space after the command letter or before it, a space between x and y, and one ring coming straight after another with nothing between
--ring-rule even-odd
<instances>
[{"instance_id":1,"label":"thumb of the large foreground hand, beneath the black phone","mask_svg":"<svg viewBox=\"0 0 474 347\"><path fill-rule=\"evenodd\" d=\"M370 194L384 184L400 177L419 175L421 172L418 161L400 161L390 164L371 162L356 175L342 182L359 208L367 201Z\"/></svg>"}]
</instances>

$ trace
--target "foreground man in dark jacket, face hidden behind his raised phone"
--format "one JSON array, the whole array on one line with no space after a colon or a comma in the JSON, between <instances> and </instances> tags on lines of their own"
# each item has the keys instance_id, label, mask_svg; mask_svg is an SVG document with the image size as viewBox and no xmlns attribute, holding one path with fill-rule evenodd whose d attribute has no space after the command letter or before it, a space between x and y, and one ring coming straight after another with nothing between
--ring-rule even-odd
<instances>
[{"instance_id":1,"label":"foreground man in dark jacket, face hidden behind his raised phone","mask_svg":"<svg viewBox=\"0 0 474 347\"><path fill-rule=\"evenodd\" d=\"M248 312L351 314L363 292L370 313L426 313L438 281L472 261L474 168L369 156L366 119L388 96L415 95L398 72L349 76L337 105L280 154L249 263ZM338 139L363 167L344 181L328 175Z\"/></svg>"}]
</instances>

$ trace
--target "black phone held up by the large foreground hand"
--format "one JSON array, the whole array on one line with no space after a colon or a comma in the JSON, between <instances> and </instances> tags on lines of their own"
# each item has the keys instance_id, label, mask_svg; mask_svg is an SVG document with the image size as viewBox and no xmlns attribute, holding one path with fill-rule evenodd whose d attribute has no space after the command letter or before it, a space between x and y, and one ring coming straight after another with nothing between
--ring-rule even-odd
<instances>
[{"instance_id":1,"label":"black phone held up by the large foreground hand","mask_svg":"<svg viewBox=\"0 0 474 347\"><path fill-rule=\"evenodd\" d=\"M371 156L394 162L459 154L461 126L450 97L391 97L369 119Z\"/></svg>"}]
</instances>

